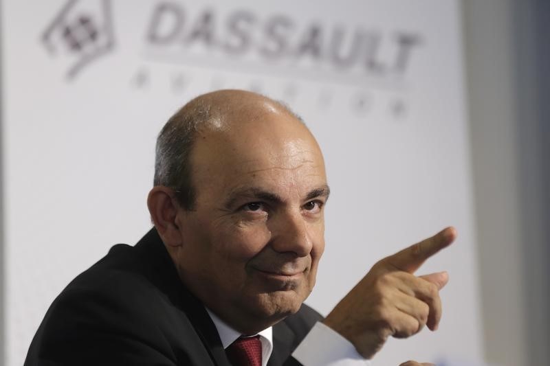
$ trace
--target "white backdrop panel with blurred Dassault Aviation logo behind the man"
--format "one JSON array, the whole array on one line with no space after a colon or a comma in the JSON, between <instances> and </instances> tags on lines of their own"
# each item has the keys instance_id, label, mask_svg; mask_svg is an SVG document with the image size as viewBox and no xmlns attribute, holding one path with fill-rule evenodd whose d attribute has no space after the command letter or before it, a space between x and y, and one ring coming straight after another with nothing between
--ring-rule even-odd
<instances>
[{"instance_id":1,"label":"white backdrop panel with blurred Dassault Aviation logo behind the man","mask_svg":"<svg viewBox=\"0 0 550 366\"><path fill-rule=\"evenodd\" d=\"M150 227L155 137L190 98L261 91L325 152L327 250L307 302L325 314L378 259L446 225L459 240L440 329L375 365L481 358L458 1L2 3L6 365L47 307Z\"/></svg>"}]
</instances>

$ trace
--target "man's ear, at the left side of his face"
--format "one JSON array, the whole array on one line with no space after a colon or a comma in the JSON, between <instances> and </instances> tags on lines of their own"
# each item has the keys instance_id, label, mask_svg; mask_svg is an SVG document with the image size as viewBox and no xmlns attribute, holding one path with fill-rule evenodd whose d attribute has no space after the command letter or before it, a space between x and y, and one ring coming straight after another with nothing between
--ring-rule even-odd
<instances>
[{"instance_id":1,"label":"man's ear, at the left side of his face","mask_svg":"<svg viewBox=\"0 0 550 366\"><path fill-rule=\"evenodd\" d=\"M181 232L177 222L179 205L172 189L157 185L147 196L151 220L164 244L169 247L181 245Z\"/></svg>"}]
</instances>

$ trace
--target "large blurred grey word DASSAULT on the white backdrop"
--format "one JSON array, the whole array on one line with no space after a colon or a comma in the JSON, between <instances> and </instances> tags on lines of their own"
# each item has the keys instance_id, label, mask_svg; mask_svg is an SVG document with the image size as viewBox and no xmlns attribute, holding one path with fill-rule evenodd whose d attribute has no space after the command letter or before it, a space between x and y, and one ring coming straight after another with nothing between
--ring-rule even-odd
<instances>
[{"instance_id":1,"label":"large blurred grey word DASSAULT on the white backdrop","mask_svg":"<svg viewBox=\"0 0 550 366\"><path fill-rule=\"evenodd\" d=\"M219 61L225 67L231 67L227 61L239 61L266 71L276 67L281 73L313 68L339 76L399 77L421 44L414 32L366 30L364 25L247 9L190 9L176 1L159 1L150 19L145 39L150 60L193 60L200 65Z\"/></svg>"}]
</instances>

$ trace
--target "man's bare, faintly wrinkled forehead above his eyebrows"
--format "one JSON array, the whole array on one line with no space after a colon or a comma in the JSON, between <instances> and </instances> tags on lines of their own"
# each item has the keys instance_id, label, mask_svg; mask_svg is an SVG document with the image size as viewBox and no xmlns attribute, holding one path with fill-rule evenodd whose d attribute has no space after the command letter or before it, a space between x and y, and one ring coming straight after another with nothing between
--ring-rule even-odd
<instances>
[{"instance_id":1,"label":"man's bare, faintly wrinkled forehead above his eyebrows","mask_svg":"<svg viewBox=\"0 0 550 366\"><path fill-rule=\"evenodd\" d=\"M191 163L197 191L205 185L234 189L326 183L325 163L314 137L287 115L266 113L253 121L200 131Z\"/></svg>"}]
</instances>

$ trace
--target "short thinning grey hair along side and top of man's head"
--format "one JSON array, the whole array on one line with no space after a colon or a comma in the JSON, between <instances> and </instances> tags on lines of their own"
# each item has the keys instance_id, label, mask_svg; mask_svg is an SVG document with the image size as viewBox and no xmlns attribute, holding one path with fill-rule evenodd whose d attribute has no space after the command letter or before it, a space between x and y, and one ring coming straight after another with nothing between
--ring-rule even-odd
<instances>
[{"instance_id":1,"label":"short thinning grey hair along side and top of man's head","mask_svg":"<svg viewBox=\"0 0 550 366\"><path fill-rule=\"evenodd\" d=\"M172 188L181 207L191 211L195 208L195 187L192 186L190 154L195 144L197 131L209 124L223 122L240 108L232 98L260 97L279 106L298 121L303 119L284 102L279 102L249 91L222 90L199 95L179 109L164 125L157 137L155 152L155 177L153 185Z\"/></svg>"}]
</instances>

